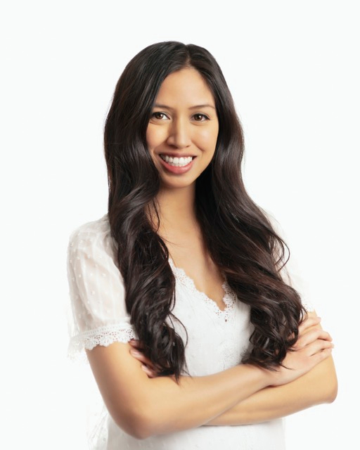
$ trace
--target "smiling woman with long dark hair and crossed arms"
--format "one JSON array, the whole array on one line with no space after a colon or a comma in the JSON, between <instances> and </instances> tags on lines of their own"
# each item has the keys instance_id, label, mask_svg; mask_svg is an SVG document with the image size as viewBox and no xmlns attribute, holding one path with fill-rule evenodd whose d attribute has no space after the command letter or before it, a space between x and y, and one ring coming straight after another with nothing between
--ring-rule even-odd
<instances>
[{"instance_id":1,"label":"smiling woman with long dark hair and crossed arms","mask_svg":"<svg viewBox=\"0 0 360 450\"><path fill-rule=\"evenodd\" d=\"M285 448L283 416L335 399L333 344L245 191L243 133L210 53L143 49L104 143L108 214L72 234L68 260L72 346L110 413L96 448Z\"/></svg>"}]
</instances>

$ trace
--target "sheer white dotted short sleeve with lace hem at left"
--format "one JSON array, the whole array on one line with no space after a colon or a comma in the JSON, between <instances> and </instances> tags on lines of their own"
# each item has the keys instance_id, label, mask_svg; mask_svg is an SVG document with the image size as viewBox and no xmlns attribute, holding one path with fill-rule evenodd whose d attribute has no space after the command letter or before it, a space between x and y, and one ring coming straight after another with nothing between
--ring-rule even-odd
<instances>
[{"instance_id":1,"label":"sheer white dotted short sleeve with lace hem at left","mask_svg":"<svg viewBox=\"0 0 360 450\"><path fill-rule=\"evenodd\" d=\"M71 234L67 263L72 310L69 356L136 338L107 215Z\"/></svg>"}]
</instances>

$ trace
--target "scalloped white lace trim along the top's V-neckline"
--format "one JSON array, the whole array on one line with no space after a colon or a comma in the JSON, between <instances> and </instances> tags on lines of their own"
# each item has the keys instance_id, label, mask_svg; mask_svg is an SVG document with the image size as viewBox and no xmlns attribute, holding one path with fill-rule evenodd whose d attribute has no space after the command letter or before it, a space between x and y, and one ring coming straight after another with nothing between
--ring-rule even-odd
<instances>
[{"instance_id":1,"label":"scalloped white lace trim along the top's V-neckline","mask_svg":"<svg viewBox=\"0 0 360 450\"><path fill-rule=\"evenodd\" d=\"M169 264L172 268L172 271L174 272L174 276L176 280L179 281L185 288L191 291L194 295L197 295L198 297L201 297L203 302L209 306L214 314L216 314L219 319L224 319L224 321L228 321L231 311L233 311L235 304L236 304L236 295L231 290L229 284L225 281L221 287L224 289L224 297L222 301L225 304L225 309L220 309L217 306L217 302L214 302L210 297L207 297L205 293L200 292L195 286L195 283L192 278L190 278L188 275L186 275L186 272L184 269L180 269L179 267L176 267L174 265L174 262L171 258L169 258Z\"/></svg>"}]
</instances>

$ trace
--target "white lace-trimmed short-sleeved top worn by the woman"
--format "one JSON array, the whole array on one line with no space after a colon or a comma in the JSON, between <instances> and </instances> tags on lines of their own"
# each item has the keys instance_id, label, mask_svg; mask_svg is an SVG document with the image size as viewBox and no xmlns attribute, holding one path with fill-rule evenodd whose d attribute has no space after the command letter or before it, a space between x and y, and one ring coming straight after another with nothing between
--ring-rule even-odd
<instances>
[{"instance_id":1,"label":"white lace-trimmed short-sleeved top worn by the woman","mask_svg":"<svg viewBox=\"0 0 360 450\"><path fill-rule=\"evenodd\" d=\"M224 283L224 311L200 293L184 270L169 261L176 278L173 314L188 332L186 362L193 376L210 375L240 364L252 326L250 309ZM124 303L124 284L115 264L115 244L108 216L80 226L70 236L68 280L72 304L70 356L96 345L137 338ZM174 321L186 342L184 328ZM89 369L90 370L90 369ZM96 450L124 449L285 449L283 420L257 425L203 426L138 440L127 435L106 414L98 429Z\"/></svg>"}]
</instances>

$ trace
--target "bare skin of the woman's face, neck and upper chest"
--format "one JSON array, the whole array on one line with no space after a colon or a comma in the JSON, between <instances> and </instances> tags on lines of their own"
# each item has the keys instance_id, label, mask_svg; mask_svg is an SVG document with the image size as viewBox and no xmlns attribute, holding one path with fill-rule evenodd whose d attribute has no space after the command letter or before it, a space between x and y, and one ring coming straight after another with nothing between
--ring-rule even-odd
<instances>
[{"instance_id":1,"label":"bare skin of the woman's face, neck and upper chest","mask_svg":"<svg viewBox=\"0 0 360 450\"><path fill-rule=\"evenodd\" d=\"M169 75L160 87L146 132L148 150L161 176L158 233L174 264L224 309L224 278L205 248L194 200L195 181L214 156L218 133L214 97L199 72L186 68ZM174 174L162 164L164 154L195 158L188 172Z\"/></svg>"}]
</instances>

